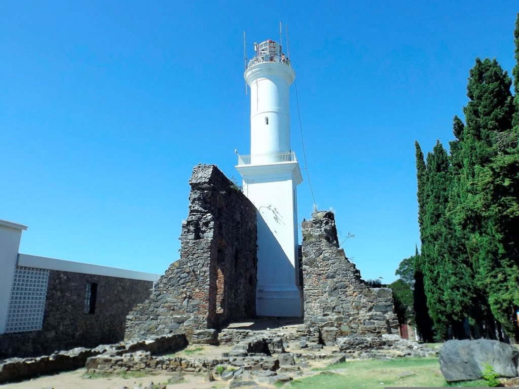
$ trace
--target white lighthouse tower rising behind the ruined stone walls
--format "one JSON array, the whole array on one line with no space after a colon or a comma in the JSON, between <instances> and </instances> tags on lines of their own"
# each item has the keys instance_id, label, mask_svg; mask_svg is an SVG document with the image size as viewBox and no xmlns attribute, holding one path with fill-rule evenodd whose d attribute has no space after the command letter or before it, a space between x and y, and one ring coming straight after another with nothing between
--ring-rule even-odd
<instances>
[{"instance_id":1,"label":"white lighthouse tower rising behind the ruined stone walls","mask_svg":"<svg viewBox=\"0 0 519 389\"><path fill-rule=\"evenodd\" d=\"M259 316L303 316L297 261L297 185L303 177L290 147L294 77L280 44L254 44L244 74L251 90L251 155L239 156L236 169L257 208Z\"/></svg>"}]
</instances>

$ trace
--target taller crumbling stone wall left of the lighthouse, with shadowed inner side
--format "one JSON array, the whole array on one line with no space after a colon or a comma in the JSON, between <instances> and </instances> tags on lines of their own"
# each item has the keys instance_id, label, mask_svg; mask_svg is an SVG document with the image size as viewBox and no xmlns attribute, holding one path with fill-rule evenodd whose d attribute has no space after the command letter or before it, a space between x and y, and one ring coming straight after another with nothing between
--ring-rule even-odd
<instances>
[{"instance_id":1,"label":"taller crumbling stone wall left of the lighthouse, with shadowed inner side","mask_svg":"<svg viewBox=\"0 0 519 389\"><path fill-rule=\"evenodd\" d=\"M189 185L180 259L130 312L126 339L184 332L195 341L212 342L214 331L207 329L255 316L254 205L215 165L195 166Z\"/></svg>"}]
</instances>

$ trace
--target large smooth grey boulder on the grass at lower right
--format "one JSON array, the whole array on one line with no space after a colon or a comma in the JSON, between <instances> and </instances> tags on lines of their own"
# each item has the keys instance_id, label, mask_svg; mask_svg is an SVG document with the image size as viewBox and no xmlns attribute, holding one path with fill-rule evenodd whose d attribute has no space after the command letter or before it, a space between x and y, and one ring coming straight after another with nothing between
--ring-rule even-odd
<instances>
[{"instance_id":1,"label":"large smooth grey boulder on the grass at lower right","mask_svg":"<svg viewBox=\"0 0 519 389\"><path fill-rule=\"evenodd\" d=\"M446 381L477 380L490 365L500 377L516 377L519 351L497 340L449 340L440 352Z\"/></svg>"}]
</instances>

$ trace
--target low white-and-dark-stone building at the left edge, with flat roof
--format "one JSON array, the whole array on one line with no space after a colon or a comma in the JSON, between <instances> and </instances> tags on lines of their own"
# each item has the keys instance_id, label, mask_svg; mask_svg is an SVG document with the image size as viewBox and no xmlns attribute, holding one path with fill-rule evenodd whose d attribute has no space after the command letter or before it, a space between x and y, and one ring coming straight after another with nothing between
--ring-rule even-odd
<instances>
[{"instance_id":1,"label":"low white-and-dark-stone building at the left edge, with flat roof","mask_svg":"<svg viewBox=\"0 0 519 389\"><path fill-rule=\"evenodd\" d=\"M19 254L25 229L0 220L0 358L122 340L158 276Z\"/></svg>"}]
</instances>

